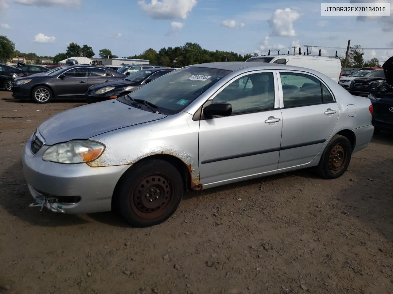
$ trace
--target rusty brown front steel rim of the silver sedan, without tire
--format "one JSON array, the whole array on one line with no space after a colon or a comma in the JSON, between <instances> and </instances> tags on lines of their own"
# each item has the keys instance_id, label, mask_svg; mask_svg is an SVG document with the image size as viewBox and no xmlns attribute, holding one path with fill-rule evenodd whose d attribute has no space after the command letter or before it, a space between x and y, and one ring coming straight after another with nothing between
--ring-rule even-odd
<instances>
[{"instance_id":1,"label":"rusty brown front steel rim of the silver sedan, without tire","mask_svg":"<svg viewBox=\"0 0 393 294\"><path fill-rule=\"evenodd\" d=\"M131 192L132 211L140 218L158 218L171 207L175 193L174 183L167 174L145 176Z\"/></svg>"}]
</instances>

